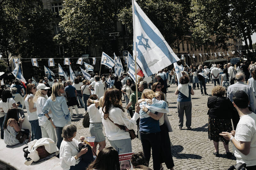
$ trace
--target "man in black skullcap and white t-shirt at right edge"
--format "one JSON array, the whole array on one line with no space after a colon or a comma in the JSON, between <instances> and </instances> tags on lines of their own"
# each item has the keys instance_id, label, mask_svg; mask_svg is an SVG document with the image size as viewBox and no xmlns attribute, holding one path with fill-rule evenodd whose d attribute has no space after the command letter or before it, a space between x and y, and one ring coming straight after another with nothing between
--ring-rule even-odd
<instances>
[{"instance_id":1,"label":"man in black skullcap and white t-shirt at right edge","mask_svg":"<svg viewBox=\"0 0 256 170\"><path fill-rule=\"evenodd\" d=\"M245 163L247 170L256 169L256 114L248 108L249 97L246 92L236 91L233 105L240 116L236 130L220 133L233 145L236 163Z\"/></svg>"}]
</instances>

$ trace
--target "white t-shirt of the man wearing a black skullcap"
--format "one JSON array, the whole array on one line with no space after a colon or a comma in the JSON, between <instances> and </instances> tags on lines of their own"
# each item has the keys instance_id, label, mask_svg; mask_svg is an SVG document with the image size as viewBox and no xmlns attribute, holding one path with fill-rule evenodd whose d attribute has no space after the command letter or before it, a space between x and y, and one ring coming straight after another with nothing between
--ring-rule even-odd
<instances>
[{"instance_id":1,"label":"white t-shirt of the man wearing a black skullcap","mask_svg":"<svg viewBox=\"0 0 256 170\"><path fill-rule=\"evenodd\" d=\"M256 165L256 114L251 113L240 117L236 126L235 139L243 142L251 141L250 153L248 155L244 155L233 145L236 163L246 163L246 166Z\"/></svg>"}]
</instances>

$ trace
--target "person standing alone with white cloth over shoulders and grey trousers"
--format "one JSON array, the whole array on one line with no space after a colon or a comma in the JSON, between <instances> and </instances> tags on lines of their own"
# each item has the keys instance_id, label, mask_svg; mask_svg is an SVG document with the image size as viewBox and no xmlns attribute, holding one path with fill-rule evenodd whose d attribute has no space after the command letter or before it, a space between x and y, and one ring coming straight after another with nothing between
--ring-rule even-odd
<instances>
[{"instance_id":1,"label":"person standing alone with white cloth over shoulders and grey trousers","mask_svg":"<svg viewBox=\"0 0 256 170\"><path fill-rule=\"evenodd\" d=\"M178 85L175 95L178 95L177 99L177 108L179 116L179 129L183 127L183 117L184 111L186 115L186 126L187 129L191 129L191 117L192 117L192 103L191 95L194 95L194 91L189 83L189 78L186 75L183 75L180 78L180 84Z\"/></svg>"}]
</instances>

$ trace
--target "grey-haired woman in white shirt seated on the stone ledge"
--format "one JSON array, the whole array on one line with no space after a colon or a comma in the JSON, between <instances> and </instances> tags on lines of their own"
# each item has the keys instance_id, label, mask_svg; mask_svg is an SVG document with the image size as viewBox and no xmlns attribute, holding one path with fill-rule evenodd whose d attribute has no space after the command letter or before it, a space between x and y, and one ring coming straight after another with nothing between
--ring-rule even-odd
<instances>
[{"instance_id":1,"label":"grey-haired woman in white shirt seated on the stone ledge","mask_svg":"<svg viewBox=\"0 0 256 170\"><path fill-rule=\"evenodd\" d=\"M83 148L79 152L78 142L76 137L76 126L69 124L63 127L62 134L63 140L60 145L60 166L63 170L84 170L91 162L80 159L83 154L88 151L88 148ZM84 137L80 137L81 143ZM89 152L88 152L89 153Z\"/></svg>"}]
</instances>

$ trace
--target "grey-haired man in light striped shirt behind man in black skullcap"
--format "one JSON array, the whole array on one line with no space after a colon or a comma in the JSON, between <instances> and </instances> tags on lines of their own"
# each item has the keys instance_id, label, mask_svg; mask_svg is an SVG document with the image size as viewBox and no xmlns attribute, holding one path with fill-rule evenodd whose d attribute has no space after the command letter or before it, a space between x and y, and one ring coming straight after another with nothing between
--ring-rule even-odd
<instances>
[{"instance_id":1,"label":"grey-haired man in light striped shirt behind man in black skullcap","mask_svg":"<svg viewBox=\"0 0 256 170\"><path fill-rule=\"evenodd\" d=\"M230 85L228 87L227 97L229 98L229 100L231 102L233 102L233 96L234 96L235 92L238 90L243 90L249 96L249 100L250 100L249 106L251 107L252 112L256 113L255 112L256 111L256 99L254 96L254 92L250 85L244 84L244 81L245 81L244 73L243 72L237 73L235 78L236 78L236 84Z\"/></svg>"}]
</instances>

